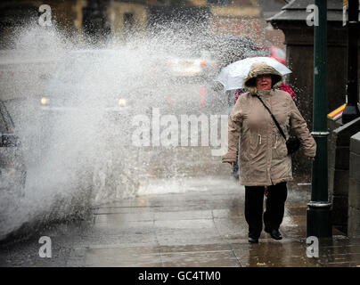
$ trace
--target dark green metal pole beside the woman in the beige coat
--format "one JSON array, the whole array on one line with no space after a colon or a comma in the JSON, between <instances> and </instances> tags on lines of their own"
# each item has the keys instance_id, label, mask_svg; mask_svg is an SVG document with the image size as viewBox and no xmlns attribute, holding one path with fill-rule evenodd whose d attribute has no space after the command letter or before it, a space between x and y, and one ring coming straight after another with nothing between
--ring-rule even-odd
<instances>
[{"instance_id":1,"label":"dark green metal pole beside the woman in the beige coat","mask_svg":"<svg viewBox=\"0 0 360 285\"><path fill-rule=\"evenodd\" d=\"M328 200L326 47L327 3L315 0L318 25L314 38L313 136L317 151L312 166L311 200L307 203L307 236L331 237L331 203Z\"/></svg>"}]
</instances>

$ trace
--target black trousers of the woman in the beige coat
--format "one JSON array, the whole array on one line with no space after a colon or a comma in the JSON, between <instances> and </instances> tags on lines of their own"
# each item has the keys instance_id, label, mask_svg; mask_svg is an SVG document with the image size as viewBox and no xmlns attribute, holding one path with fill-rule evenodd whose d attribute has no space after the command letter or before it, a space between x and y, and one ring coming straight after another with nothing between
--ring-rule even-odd
<instances>
[{"instance_id":1,"label":"black trousers of the woman in the beige coat","mask_svg":"<svg viewBox=\"0 0 360 285\"><path fill-rule=\"evenodd\" d=\"M253 238L258 238L263 229L264 192L264 186L245 186L245 219ZM267 186L267 192L264 224L270 230L277 230L282 224L288 196L286 182Z\"/></svg>"}]
</instances>

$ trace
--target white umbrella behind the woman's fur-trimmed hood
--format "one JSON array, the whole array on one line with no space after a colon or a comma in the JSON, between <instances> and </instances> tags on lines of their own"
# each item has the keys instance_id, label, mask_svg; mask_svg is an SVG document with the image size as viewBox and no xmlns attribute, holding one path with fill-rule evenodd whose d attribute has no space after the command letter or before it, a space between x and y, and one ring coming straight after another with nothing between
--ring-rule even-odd
<instances>
[{"instance_id":1,"label":"white umbrella behind the woman's fur-trimmed hood","mask_svg":"<svg viewBox=\"0 0 360 285\"><path fill-rule=\"evenodd\" d=\"M216 81L224 85L225 90L234 90L243 88L242 82L244 78L248 75L250 67L253 63L264 61L267 65L272 66L274 69L279 71L282 75L289 74L292 71L288 69L281 62L276 61L271 57L249 57L241 61L235 61L224 69L221 70Z\"/></svg>"}]
</instances>

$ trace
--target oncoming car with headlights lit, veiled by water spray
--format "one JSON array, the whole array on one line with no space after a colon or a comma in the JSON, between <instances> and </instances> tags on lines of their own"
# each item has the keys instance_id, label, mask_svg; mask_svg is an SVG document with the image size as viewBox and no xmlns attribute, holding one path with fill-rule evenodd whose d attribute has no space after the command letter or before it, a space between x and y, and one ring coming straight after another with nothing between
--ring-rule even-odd
<instances>
[{"instance_id":1,"label":"oncoming car with headlights lit, veiled by water spray","mask_svg":"<svg viewBox=\"0 0 360 285\"><path fill-rule=\"evenodd\" d=\"M61 113L92 108L124 112L132 98L126 58L116 50L78 50L66 54L39 98L41 110ZM131 83L133 84L133 83Z\"/></svg>"}]
</instances>

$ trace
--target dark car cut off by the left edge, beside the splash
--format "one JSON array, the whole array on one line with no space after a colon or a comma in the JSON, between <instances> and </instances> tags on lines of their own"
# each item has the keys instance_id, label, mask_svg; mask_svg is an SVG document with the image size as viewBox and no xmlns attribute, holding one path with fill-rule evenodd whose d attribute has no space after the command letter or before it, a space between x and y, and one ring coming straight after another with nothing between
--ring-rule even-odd
<instances>
[{"instance_id":1,"label":"dark car cut off by the left edge, beside the splash","mask_svg":"<svg viewBox=\"0 0 360 285\"><path fill-rule=\"evenodd\" d=\"M24 196L27 171L19 136L3 101L0 101L0 134L0 199L4 202Z\"/></svg>"}]
</instances>

